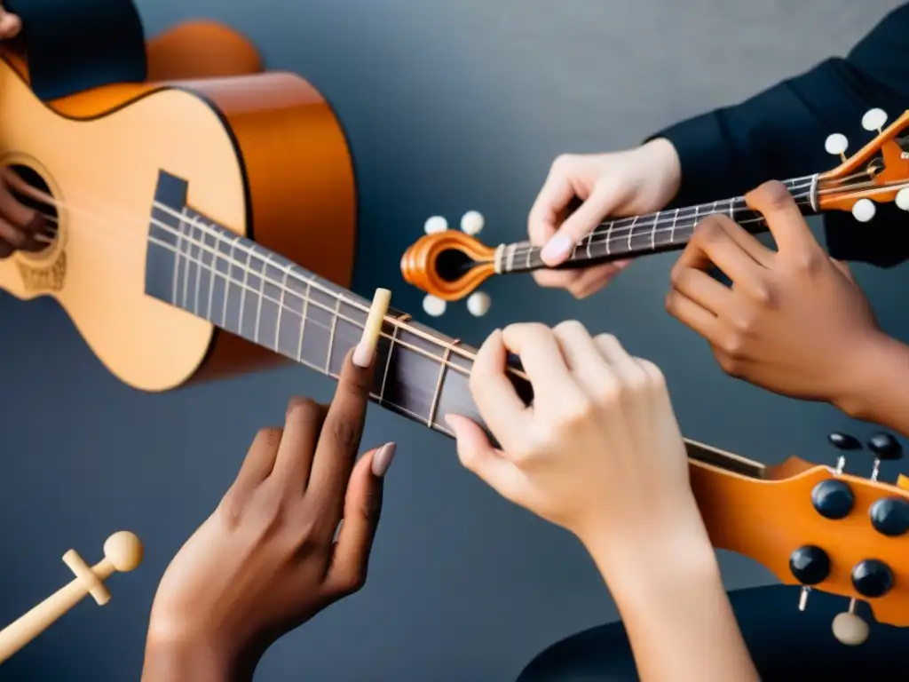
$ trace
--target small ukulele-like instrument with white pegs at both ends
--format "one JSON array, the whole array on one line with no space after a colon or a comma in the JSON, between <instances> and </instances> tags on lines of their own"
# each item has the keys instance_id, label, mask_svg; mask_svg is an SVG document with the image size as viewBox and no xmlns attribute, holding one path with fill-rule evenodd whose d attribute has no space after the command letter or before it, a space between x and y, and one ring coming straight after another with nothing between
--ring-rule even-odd
<instances>
[{"instance_id":1,"label":"small ukulele-like instrument with white pegs at both ends","mask_svg":"<svg viewBox=\"0 0 909 682\"><path fill-rule=\"evenodd\" d=\"M883 130L886 120L884 111L871 109L863 116L862 125L865 130L877 132L874 140L846 158L844 135L830 135L826 150L839 155L842 163L825 173L785 181L804 216L851 211L856 220L864 223L874 217L875 204L893 201L909 210L909 138L898 137L909 125L909 111ZM694 227L714 214L729 216L753 234L767 229L764 216L752 211L743 196L616 218L596 226L554 269L682 249L694 235ZM430 234L408 247L401 258L405 281L442 301L457 301L472 294L491 276L548 267L540 258L540 246L529 242L485 246L470 234L474 231L475 228L464 232L430 230L427 223ZM432 309L427 307L427 311Z\"/></svg>"}]
</instances>

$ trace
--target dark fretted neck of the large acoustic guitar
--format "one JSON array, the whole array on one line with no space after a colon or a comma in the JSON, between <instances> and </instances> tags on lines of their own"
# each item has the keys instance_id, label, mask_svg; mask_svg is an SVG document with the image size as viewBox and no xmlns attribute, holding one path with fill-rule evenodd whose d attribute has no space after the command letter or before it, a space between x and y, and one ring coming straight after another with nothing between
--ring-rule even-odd
<instances>
[{"instance_id":1,"label":"dark fretted neck of the large acoustic guitar","mask_svg":"<svg viewBox=\"0 0 909 682\"><path fill-rule=\"evenodd\" d=\"M320 374L337 378L371 302L238 236L185 204L185 181L162 173L148 231L145 294L202 317ZM476 350L390 310L376 346L373 402L454 436L444 416L484 426L468 380ZM509 374L526 403L533 389ZM688 441L689 456L743 476L764 466Z\"/></svg>"}]
</instances>

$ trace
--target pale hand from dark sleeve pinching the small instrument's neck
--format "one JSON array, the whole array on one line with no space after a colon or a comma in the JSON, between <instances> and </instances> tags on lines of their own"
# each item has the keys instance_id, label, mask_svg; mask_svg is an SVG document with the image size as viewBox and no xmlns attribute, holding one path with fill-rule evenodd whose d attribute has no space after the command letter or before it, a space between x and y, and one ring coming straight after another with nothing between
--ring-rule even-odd
<instances>
[{"instance_id":1,"label":"pale hand from dark sleeve pinching the small instrument's neck","mask_svg":"<svg viewBox=\"0 0 909 682\"><path fill-rule=\"evenodd\" d=\"M559 156L527 219L530 242L545 245L540 257L547 266L557 266L606 216L663 208L678 191L681 173L674 146L662 138L622 152ZM584 203L566 217L575 198ZM536 270L533 276L540 286L564 288L584 298L630 263L624 259L578 270Z\"/></svg>"}]
</instances>

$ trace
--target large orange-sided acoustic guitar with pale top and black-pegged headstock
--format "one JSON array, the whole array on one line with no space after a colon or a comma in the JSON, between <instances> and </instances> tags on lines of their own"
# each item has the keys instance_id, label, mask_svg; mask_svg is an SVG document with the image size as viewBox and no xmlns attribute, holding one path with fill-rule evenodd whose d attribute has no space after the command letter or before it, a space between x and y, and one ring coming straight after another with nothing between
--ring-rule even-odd
<instances>
[{"instance_id":1,"label":"large orange-sided acoustic guitar with pale top and black-pegged headstock","mask_svg":"<svg viewBox=\"0 0 909 682\"><path fill-rule=\"evenodd\" d=\"M312 85L270 73L106 85L45 103L0 60L0 91L0 164L55 223L42 251L0 262L0 287L55 298L105 366L137 389L279 357L338 375L371 305L345 288L355 178L342 128ZM870 164L877 151L884 170L861 187L831 186L826 201L895 195L890 183L906 169L894 131L851 162ZM447 412L483 424L468 386L474 355L389 311L371 398L446 436ZM532 401L521 368L510 374ZM715 547L909 625L909 479L893 485L798 458L768 467L687 446ZM877 456L895 456L894 446ZM853 610L837 627L855 643L863 636Z\"/></svg>"}]
</instances>

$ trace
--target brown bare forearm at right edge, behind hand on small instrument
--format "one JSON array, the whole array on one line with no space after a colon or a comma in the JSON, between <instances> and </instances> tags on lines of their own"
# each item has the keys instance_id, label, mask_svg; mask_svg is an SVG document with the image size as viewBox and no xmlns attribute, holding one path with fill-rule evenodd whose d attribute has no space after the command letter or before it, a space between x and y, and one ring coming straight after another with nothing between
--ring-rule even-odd
<instances>
[{"instance_id":1,"label":"brown bare forearm at right edge, behind hand on small instrument","mask_svg":"<svg viewBox=\"0 0 909 682\"><path fill-rule=\"evenodd\" d=\"M909 436L909 346L879 332L856 348L853 360L844 378L848 385L834 405Z\"/></svg>"}]
</instances>

